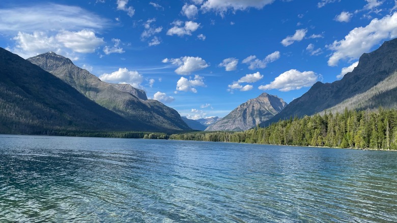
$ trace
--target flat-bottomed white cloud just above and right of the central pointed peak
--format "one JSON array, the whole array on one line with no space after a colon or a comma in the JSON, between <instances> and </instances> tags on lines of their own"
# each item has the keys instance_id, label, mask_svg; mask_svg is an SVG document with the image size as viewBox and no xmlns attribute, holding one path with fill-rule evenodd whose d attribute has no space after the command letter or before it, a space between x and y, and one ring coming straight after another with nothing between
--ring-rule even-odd
<instances>
[{"instance_id":1,"label":"flat-bottomed white cloud just above and right of the central pointed peak","mask_svg":"<svg viewBox=\"0 0 397 223\"><path fill-rule=\"evenodd\" d=\"M278 89L279 91L299 90L314 85L318 79L319 76L313 71L300 72L292 69L280 74L268 85L259 86L259 89L264 91L271 89Z\"/></svg>"}]
</instances>

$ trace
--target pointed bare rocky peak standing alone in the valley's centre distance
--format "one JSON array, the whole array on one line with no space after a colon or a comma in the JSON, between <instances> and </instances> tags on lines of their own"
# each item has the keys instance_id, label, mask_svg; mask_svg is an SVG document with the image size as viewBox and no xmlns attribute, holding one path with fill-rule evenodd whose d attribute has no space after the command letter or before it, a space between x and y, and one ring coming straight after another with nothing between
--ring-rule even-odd
<instances>
[{"instance_id":1,"label":"pointed bare rocky peak standing alone in the valley's centre distance","mask_svg":"<svg viewBox=\"0 0 397 223\"><path fill-rule=\"evenodd\" d=\"M281 98L262 93L241 104L229 115L209 126L206 131L244 131L278 114L287 103Z\"/></svg>"}]
</instances>

